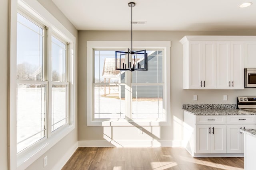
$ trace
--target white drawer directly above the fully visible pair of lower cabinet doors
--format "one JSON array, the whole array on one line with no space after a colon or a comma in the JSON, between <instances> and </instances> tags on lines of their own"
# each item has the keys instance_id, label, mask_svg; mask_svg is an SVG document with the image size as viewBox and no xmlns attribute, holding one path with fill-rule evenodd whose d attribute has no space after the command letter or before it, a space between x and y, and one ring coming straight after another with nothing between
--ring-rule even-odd
<instances>
[{"instance_id":1,"label":"white drawer directly above the fully visible pair of lower cabinet doors","mask_svg":"<svg viewBox=\"0 0 256 170\"><path fill-rule=\"evenodd\" d=\"M225 115L196 116L196 124L226 124Z\"/></svg>"}]
</instances>

